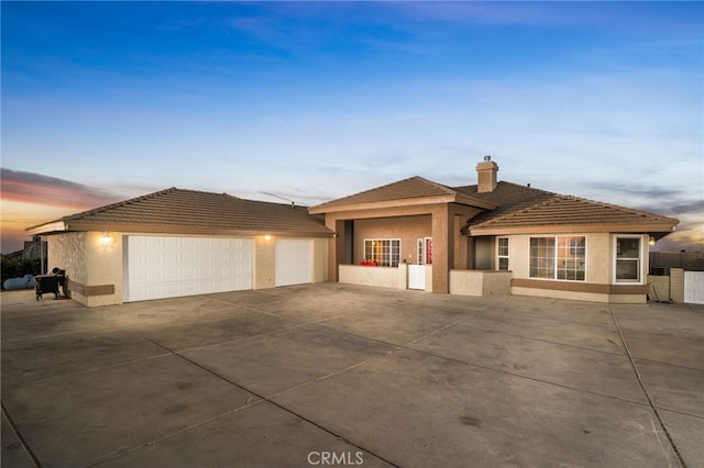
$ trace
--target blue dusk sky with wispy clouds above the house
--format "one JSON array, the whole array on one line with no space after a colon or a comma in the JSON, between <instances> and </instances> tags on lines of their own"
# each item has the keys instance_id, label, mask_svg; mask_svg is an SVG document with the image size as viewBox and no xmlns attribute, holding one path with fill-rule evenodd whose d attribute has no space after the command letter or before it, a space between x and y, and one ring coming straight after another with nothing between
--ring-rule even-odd
<instances>
[{"instance_id":1,"label":"blue dusk sky with wispy clouds above the house","mask_svg":"<svg viewBox=\"0 0 704 468\"><path fill-rule=\"evenodd\" d=\"M314 205L411 176L678 218L704 252L702 2L0 3L3 254L169 187Z\"/></svg>"}]
</instances>

